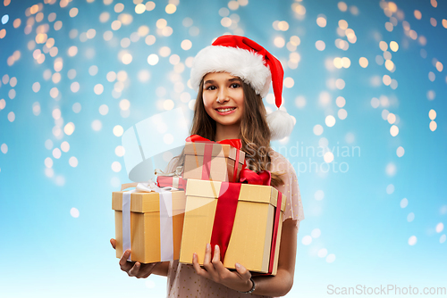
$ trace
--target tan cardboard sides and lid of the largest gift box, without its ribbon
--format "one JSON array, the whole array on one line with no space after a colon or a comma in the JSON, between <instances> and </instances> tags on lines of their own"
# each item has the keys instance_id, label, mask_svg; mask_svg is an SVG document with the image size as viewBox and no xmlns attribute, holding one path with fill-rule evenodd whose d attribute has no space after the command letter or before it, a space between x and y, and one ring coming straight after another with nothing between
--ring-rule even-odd
<instances>
[{"instance_id":1,"label":"tan cardboard sides and lid of the largest gift box, without its ribbon","mask_svg":"<svg viewBox=\"0 0 447 298\"><path fill-rule=\"evenodd\" d=\"M181 262L191 263L192 254L196 252L198 263L203 265L205 248L212 236L221 186L222 182L218 181L188 180L181 238ZM240 186L232 234L223 260L224 267L234 269L235 263L239 262L250 271L268 273L278 193L273 186L249 184ZM276 274L277 269L285 199L283 195L272 275Z\"/></svg>"}]
</instances>

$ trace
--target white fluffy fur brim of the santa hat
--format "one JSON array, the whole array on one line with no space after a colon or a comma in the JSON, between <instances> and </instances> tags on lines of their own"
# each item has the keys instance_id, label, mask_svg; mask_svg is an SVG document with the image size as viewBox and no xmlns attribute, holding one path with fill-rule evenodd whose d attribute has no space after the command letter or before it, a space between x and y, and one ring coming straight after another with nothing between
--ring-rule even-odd
<instances>
[{"instance_id":1,"label":"white fluffy fur brim of the santa hat","mask_svg":"<svg viewBox=\"0 0 447 298\"><path fill-rule=\"evenodd\" d=\"M260 54L231 46L207 46L194 58L190 83L198 91L200 81L210 72L228 72L249 84L257 95L266 97L272 74Z\"/></svg>"}]
</instances>

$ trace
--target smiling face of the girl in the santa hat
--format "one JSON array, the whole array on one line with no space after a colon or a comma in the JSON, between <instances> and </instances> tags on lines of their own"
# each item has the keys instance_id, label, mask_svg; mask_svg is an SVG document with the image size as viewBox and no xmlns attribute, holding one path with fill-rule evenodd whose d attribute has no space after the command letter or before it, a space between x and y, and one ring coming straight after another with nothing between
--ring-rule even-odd
<instances>
[{"instance_id":1,"label":"smiling face of the girl in the santa hat","mask_svg":"<svg viewBox=\"0 0 447 298\"><path fill-rule=\"evenodd\" d=\"M228 72L208 73L203 79L203 103L216 124L240 125L244 112L242 82Z\"/></svg>"}]
</instances>

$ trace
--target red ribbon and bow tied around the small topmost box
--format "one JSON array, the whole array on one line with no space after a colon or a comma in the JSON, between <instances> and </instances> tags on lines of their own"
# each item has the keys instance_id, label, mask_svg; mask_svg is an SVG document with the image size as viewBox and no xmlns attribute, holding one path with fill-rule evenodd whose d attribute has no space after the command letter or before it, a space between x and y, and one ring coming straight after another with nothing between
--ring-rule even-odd
<instances>
[{"instance_id":1,"label":"red ribbon and bow tied around the small topmost box","mask_svg":"<svg viewBox=\"0 0 447 298\"><path fill-rule=\"evenodd\" d=\"M194 143L205 143L205 149L203 153L203 167L202 167L202 180L209 180L209 173L211 170L211 153L213 151L213 144L221 145L232 145L234 148L240 150L242 148L242 141L239 138L225 139L219 142L213 142L205 137L200 137L198 135L192 135L186 138L187 142ZM234 170L232 172L232 182L236 182L238 176L238 166L239 166L239 154L236 152L236 160L234 161ZM244 161L245 166L245 161ZM245 167L242 167L245 168Z\"/></svg>"}]
</instances>

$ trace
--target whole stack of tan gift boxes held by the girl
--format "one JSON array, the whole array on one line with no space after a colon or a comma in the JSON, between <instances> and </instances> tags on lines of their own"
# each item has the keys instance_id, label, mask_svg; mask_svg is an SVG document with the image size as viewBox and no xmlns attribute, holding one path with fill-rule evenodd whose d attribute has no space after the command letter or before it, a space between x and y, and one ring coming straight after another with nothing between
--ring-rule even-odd
<instances>
[{"instance_id":1,"label":"whole stack of tan gift boxes held by the girl","mask_svg":"<svg viewBox=\"0 0 447 298\"><path fill-rule=\"evenodd\" d=\"M158 176L157 186L114 192L116 256L124 247L131 249L131 261L190 264L196 252L202 265L206 245L218 244L226 268L238 262L275 275L285 196L270 186L270 173L245 169L240 140L186 141L182 177Z\"/></svg>"}]
</instances>

